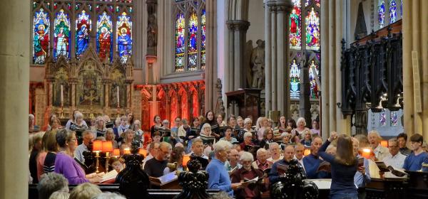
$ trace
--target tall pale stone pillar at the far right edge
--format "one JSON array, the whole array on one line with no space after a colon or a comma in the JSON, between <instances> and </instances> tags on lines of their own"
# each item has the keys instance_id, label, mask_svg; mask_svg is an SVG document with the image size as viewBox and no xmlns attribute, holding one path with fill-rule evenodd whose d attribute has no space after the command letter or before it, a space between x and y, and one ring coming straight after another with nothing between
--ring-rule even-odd
<instances>
[{"instance_id":1,"label":"tall pale stone pillar at the far right edge","mask_svg":"<svg viewBox=\"0 0 428 199\"><path fill-rule=\"evenodd\" d=\"M423 0L403 1L403 91L404 91L404 132L409 136L419 133L428 138L428 96L422 93L428 92L428 20L420 17L420 11L428 9L428 2ZM425 35L423 35L425 34ZM412 53L417 54L412 58ZM414 73L413 64L418 63L419 72ZM422 74L421 74L422 73ZM419 75L420 96L415 98L414 75ZM417 102L422 103L422 112L418 112Z\"/></svg>"}]
</instances>

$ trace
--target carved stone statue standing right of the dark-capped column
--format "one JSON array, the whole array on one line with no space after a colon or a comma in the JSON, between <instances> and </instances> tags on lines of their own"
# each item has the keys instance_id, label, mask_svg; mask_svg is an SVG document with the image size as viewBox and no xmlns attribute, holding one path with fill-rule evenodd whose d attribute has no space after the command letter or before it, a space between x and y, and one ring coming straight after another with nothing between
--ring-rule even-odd
<instances>
[{"instance_id":1,"label":"carved stone statue standing right of the dark-capped column","mask_svg":"<svg viewBox=\"0 0 428 199\"><path fill-rule=\"evenodd\" d=\"M253 81L251 87L263 89L265 87L265 41L258 40L257 47L251 53L251 70Z\"/></svg>"}]
</instances>

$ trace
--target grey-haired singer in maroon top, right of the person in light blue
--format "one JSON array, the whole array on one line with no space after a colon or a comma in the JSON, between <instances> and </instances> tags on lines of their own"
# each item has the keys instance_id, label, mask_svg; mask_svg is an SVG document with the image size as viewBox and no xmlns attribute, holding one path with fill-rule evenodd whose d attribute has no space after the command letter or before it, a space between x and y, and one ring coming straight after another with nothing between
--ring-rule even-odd
<instances>
[{"instance_id":1,"label":"grey-haired singer in maroon top, right of the person in light blue","mask_svg":"<svg viewBox=\"0 0 428 199\"><path fill-rule=\"evenodd\" d=\"M232 183L250 181L254 178L263 178L263 171L255 169L253 168L253 166L251 166L251 163L253 163L253 161L253 154L250 154L249 152L243 152L243 154L241 154L240 163L243 164L243 167L234 171L230 175ZM259 186L260 183L262 184L261 186ZM265 190L263 182L256 181L248 184L248 186L245 188L238 188L237 190L235 190L235 196L236 198L261 198L260 188Z\"/></svg>"}]
</instances>

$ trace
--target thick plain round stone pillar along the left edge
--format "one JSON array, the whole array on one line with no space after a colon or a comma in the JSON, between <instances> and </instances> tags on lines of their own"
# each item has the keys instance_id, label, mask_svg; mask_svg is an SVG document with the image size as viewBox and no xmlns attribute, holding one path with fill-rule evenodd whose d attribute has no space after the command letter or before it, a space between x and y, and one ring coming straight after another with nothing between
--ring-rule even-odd
<instances>
[{"instance_id":1,"label":"thick plain round stone pillar along the left edge","mask_svg":"<svg viewBox=\"0 0 428 199\"><path fill-rule=\"evenodd\" d=\"M24 0L2 3L0 16L9 20L0 22L0 198L28 198L31 8Z\"/></svg>"}]
</instances>

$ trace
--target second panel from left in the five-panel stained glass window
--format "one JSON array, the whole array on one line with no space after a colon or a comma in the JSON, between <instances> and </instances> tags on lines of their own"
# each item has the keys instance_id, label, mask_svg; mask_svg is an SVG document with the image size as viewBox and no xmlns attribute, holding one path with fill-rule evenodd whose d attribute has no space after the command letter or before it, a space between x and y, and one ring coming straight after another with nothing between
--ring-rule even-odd
<instances>
[{"instance_id":1,"label":"second panel from left in the five-panel stained glass window","mask_svg":"<svg viewBox=\"0 0 428 199\"><path fill-rule=\"evenodd\" d=\"M54 21L54 58L59 55L70 57L70 17L63 9Z\"/></svg>"}]
</instances>

